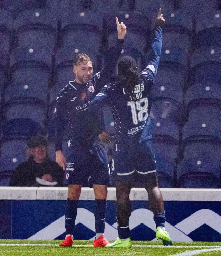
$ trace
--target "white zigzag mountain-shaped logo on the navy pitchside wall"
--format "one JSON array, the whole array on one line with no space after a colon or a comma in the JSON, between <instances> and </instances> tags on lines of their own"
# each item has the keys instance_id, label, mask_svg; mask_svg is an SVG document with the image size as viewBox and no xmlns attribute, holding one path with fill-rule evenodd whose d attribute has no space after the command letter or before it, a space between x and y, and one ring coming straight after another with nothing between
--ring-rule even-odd
<instances>
[{"instance_id":1,"label":"white zigzag mountain-shaped logo on the navy pitchside wall","mask_svg":"<svg viewBox=\"0 0 221 256\"><path fill-rule=\"evenodd\" d=\"M87 209L78 208L76 225L79 223L83 224L88 229L95 232L94 227L94 214ZM194 230L199 229L200 227L207 225L214 232L220 233L221 236L221 216L210 209L201 209L191 214L189 217L177 223L175 226L172 226L169 222L165 223L166 230L169 231L170 237L173 241L193 241L188 235ZM136 209L132 212L129 226L131 231L138 227L139 225L145 225L149 229L155 232L156 227L153 222L153 213L148 209ZM55 239L65 232L65 215L52 222L45 228L41 229L35 235L29 237L30 240L37 239ZM118 237L117 232L117 222L110 225L106 222L105 236L108 240L115 240ZM94 239L94 236L91 237ZM156 241L156 239L152 239Z\"/></svg>"}]
</instances>

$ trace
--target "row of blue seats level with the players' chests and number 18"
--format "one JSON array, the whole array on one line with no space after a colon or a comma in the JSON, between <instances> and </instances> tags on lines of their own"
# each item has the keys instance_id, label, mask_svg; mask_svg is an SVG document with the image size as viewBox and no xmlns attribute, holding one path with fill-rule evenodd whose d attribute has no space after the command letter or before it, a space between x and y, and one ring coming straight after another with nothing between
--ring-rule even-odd
<instances>
[{"instance_id":1,"label":"row of blue seats level with the players' chests and number 18","mask_svg":"<svg viewBox=\"0 0 221 256\"><path fill-rule=\"evenodd\" d=\"M6 127L13 128L11 124L7 125L10 120L26 118L31 120L30 122L34 122L36 127L41 127L44 130L45 125L54 120L55 99L58 92L51 93L49 102L46 90L40 86L33 87L33 90L28 85L25 86L14 84L6 89L5 104L2 104L2 121L6 121ZM149 100L152 100L151 117L156 120L163 118L173 121L179 127L182 127L187 121L191 122L197 119L201 119L203 122L221 122L220 84L194 84L186 91L184 104L182 97L182 91L173 84L155 83L149 97ZM27 123L27 129L21 129L21 135L26 135L28 130L31 131L32 126L28 129ZM8 135L19 133L13 129L7 128L7 130Z\"/></svg>"}]
</instances>

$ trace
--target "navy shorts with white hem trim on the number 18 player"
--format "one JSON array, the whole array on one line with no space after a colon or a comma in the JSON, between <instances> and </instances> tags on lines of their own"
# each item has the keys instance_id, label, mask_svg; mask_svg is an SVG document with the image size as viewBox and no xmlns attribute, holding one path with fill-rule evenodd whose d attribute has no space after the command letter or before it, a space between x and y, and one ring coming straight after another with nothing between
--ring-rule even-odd
<instances>
[{"instance_id":1,"label":"navy shorts with white hem trim on the number 18 player","mask_svg":"<svg viewBox=\"0 0 221 256\"><path fill-rule=\"evenodd\" d=\"M144 181L156 176L156 160L152 149L152 140L142 141L128 139L114 145L113 159L110 166L114 181Z\"/></svg>"}]
</instances>

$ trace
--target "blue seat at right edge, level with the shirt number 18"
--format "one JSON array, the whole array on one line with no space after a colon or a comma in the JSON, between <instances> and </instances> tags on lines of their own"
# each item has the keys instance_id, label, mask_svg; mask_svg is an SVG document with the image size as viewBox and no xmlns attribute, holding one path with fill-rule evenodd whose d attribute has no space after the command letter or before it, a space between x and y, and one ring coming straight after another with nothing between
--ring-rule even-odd
<instances>
[{"instance_id":1,"label":"blue seat at right edge, level with the shirt number 18","mask_svg":"<svg viewBox=\"0 0 221 256\"><path fill-rule=\"evenodd\" d=\"M186 91L185 96L189 121L213 117L221 122L221 86L219 84L193 84Z\"/></svg>"}]
</instances>

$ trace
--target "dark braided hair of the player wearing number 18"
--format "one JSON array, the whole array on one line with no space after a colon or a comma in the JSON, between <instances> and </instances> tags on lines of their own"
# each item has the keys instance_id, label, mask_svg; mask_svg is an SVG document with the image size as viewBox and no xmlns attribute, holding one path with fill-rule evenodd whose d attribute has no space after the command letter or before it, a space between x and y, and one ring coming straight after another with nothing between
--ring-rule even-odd
<instances>
[{"instance_id":1,"label":"dark braided hair of the player wearing number 18","mask_svg":"<svg viewBox=\"0 0 221 256\"><path fill-rule=\"evenodd\" d=\"M136 61L131 56L124 56L118 62L118 75L127 95L133 94L134 86L141 83Z\"/></svg>"}]
</instances>

